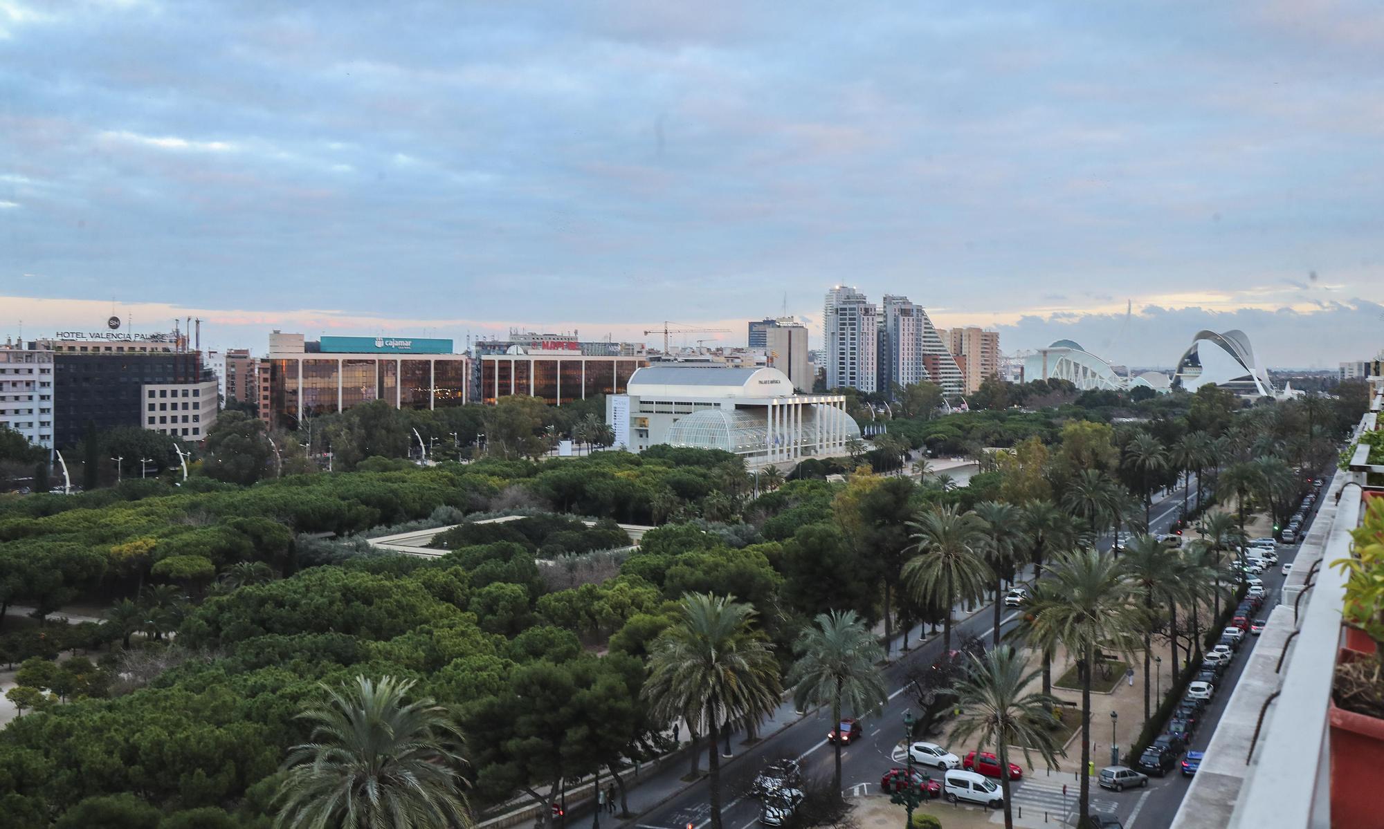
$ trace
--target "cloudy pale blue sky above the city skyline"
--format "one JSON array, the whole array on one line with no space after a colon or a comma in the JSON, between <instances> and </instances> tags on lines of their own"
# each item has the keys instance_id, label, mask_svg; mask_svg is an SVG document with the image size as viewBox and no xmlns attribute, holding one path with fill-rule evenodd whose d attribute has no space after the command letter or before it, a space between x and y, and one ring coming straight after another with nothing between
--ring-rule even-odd
<instances>
[{"instance_id":1,"label":"cloudy pale blue sky above the city skyline","mask_svg":"<svg viewBox=\"0 0 1384 829\"><path fill-rule=\"evenodd\" d=\"M0 0L0 336L743 344L844 283L1334 368L1384 347L1381 146L1373 0Z\"/></svg>"}]
</instances>

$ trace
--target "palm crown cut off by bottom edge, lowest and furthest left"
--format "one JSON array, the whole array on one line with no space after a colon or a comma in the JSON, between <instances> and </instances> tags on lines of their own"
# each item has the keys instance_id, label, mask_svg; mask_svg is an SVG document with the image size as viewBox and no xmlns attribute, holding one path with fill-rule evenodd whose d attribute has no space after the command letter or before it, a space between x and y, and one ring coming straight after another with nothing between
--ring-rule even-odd
<instances>
[{"instance_id":1,"label":"palm crown cut off by bottom edge, lowest and furthest left","mask_svg":"<svg viewBox=\"0 0 1384 829\"><path fill-rule=\"evenodd\" d=\"M412 680L363 676L309 707L311 742L293 746L275 828L473 826L462 792L461 728L432 699L404 702Z\"/></svg>"}]
</instances>

